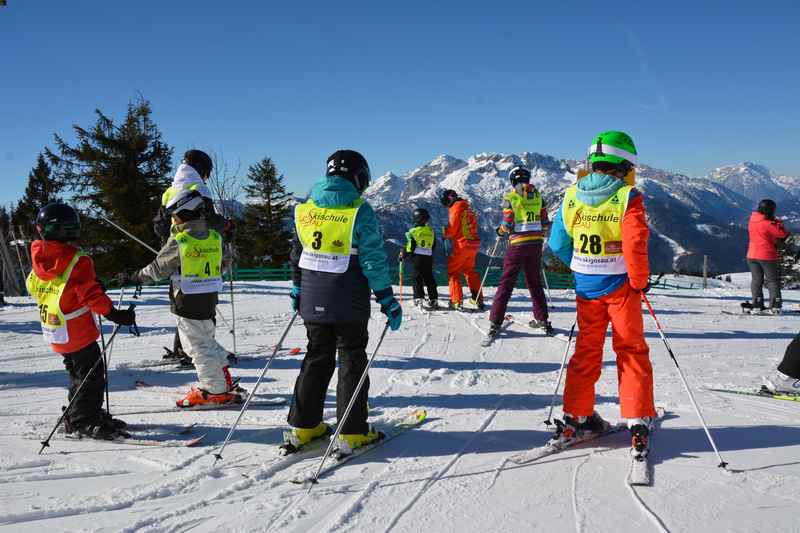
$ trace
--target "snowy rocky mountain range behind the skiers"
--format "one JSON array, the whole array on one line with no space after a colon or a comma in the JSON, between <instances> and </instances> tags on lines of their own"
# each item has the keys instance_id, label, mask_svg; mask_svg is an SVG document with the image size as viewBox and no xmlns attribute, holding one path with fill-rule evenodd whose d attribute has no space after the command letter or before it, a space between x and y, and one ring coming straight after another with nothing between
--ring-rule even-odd
<instances>
[{"instance_id":1,"label":"snowy rocky mountain range behind the skiers","mask_svg":"<svg viewBox=\"0 0 800 533\"><path fill-rule=\"evenodd\" d=\"M575 181L579 162L523 152L476 154L466 161L441 155L406 174L387 173L365 192L381 219L387 249L396 253L404 241L414 209L431 213L437 233L447 222L439 203L444 189L454 189L478 214L482 250L489 253L500 223L502 195L509 189L508 172L523 164L542 192L548 210L560 204L564 189ZM650 257L654 272L698 272L708 255L712 272L746 269L747 220L761 198L778 202L778 215L790 227L800 227L800 178L774 176L754 163L720 167L708 176L637 167L637 187L645 196L651 229ZM438 262L443 261L439 254Z\"/></svg>"}]
</instances>

